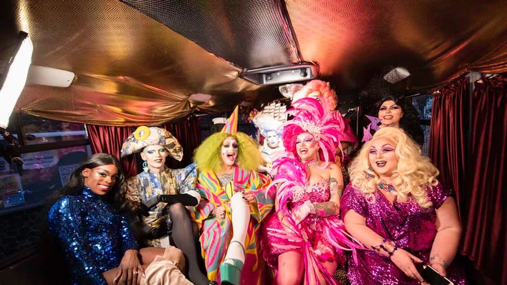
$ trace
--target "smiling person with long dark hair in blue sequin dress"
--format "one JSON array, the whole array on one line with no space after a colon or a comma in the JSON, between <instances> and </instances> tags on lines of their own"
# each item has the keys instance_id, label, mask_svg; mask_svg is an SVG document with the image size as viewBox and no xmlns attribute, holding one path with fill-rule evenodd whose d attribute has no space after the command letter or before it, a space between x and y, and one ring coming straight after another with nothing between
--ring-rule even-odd
<instances>
[{"instance_id":1,"label":"smiling person with long dark hair in blue sequin dress","mask_svg":"<svg viewBox=\"0 0 507 285\"><path fill-rule=\"evenodd\" d=\"M65 254L72 284L139 284L147 264L164 254L164 249L156 248L138 251L130 226L118 210L121 182L118 160L94 154L52 197L48 231Z\"/></svg>"}]
</instances>

